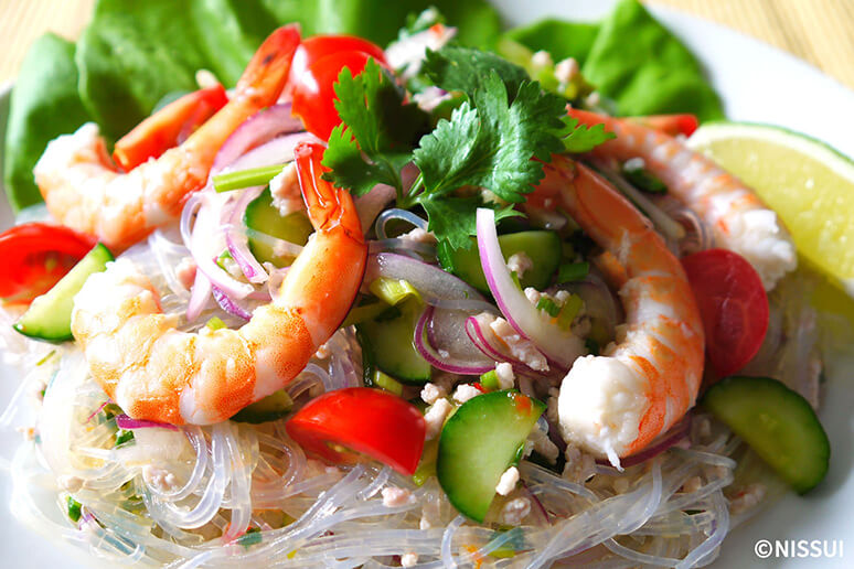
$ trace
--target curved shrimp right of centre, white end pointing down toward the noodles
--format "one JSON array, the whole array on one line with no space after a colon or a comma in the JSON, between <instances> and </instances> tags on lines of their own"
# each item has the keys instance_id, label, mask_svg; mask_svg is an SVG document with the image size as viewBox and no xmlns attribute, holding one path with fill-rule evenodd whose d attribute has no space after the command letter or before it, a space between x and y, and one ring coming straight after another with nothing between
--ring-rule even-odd
<instances>
[{"instance_id":1,"label":"curved shrimp right of centre, white end pointing down toward the noodles","mask_svg":"<svg viewBox=\"0 0 854 569\"><path fill-rule=\"evenodd\" d=\"M602 355L575 361L558 397L564 438L617 465L693 407L703 375L703 324L679 260L606 181L556 157L533 194L545 197L625 270L626 324Z\"/></svg>"}]
</instances>

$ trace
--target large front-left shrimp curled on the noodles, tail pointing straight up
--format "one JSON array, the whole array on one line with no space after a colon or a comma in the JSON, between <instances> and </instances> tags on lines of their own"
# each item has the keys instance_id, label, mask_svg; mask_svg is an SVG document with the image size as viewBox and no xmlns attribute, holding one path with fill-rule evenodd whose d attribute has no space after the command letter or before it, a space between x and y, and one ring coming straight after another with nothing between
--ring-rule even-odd
<instances>
[{"instance_id":1,"label":"large front-left shrimp curled on the noodles, tail pointing straight up","mask_svg":"<svg viewBox=\"0 0 854 569\"><path fill-rule=\"evenodd\" d=\"M177 330L151 282L119 257L74 299L72 333L94 378L129 416L223 421L293 379L344 320L367 245L353 200L320 176L322 147L300 143L300 190L316 232L273 301L238 330Z\"/></svg>"}]
</instances>

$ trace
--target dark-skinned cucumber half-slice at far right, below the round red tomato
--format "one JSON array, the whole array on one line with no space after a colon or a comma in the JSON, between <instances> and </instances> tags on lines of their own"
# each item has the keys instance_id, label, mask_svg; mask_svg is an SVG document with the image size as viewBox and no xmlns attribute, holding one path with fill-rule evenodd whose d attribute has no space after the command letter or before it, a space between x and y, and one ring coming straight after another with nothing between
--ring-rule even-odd
<instances>
[{"instance_id":1,"label":"dark-skinned cucumber half-slice at far right, below the round red tomato","mask_svg":"<svg viewBox=\"0 0 854 569\"><path fill-rule=\"evenodd\" d=\"M810 404L770 377L730 376L713 385L702 405L744 439L796 492L828 473L830 441Z\"/></svg>"}]
</instances>

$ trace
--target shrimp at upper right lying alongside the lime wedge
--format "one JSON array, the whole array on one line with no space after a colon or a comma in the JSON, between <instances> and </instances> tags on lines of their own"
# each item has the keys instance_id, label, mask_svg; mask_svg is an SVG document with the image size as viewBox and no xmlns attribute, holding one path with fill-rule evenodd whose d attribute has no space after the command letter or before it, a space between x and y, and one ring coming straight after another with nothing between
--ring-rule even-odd
<instances>
[{"instance_id":1,"label":"shrimp at upper right lying alongside the lime wedge","mask_svg":"<svg viewBox=\"0 0 854 569\"><path fill-rule=\"evenodd\" d=\"M789 232L777 214L733 174L682 142L636 120L619 120L570 109L585 125L604 124L616 139L597 147L598 158L642 158L668 190L712 227L719 246L741 255L756 269L766 290L798 266Z\"/></svg>"}]
</instances>

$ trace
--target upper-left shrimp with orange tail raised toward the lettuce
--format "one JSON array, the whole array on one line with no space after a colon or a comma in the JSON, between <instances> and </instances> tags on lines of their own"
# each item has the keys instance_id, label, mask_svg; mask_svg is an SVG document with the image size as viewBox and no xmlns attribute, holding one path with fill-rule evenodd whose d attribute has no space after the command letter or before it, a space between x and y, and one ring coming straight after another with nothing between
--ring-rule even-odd
<instances>
[{"instance_id":1,"label":"upper-left shrimp with orange tail raised toward the lettuce","mask_svg":"<svg viewBox=\"0 0 854 569\"><path fill-rule=\"evenodd\" d=\"M231 100L179 147L128 173L107 154L94 124L47 144L33 173L47 210L74 229L121 250L177 217L204 186L220 147L256 111L276 101L299 45L296 26L279 28L246 67Z\"/></svg>"}]
</instances>

